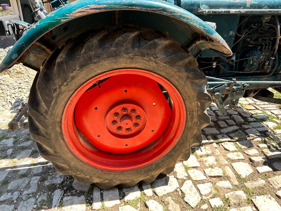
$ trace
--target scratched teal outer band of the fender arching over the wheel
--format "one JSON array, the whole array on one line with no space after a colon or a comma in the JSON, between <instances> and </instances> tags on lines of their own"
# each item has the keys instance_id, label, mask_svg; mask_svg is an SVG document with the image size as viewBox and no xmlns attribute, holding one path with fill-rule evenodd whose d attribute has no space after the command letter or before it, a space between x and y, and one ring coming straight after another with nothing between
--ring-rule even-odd
<instances>
[{"instance_id":1,"label":"scratched teal outer band of the fender arching over the wheel","mask_svg":"<svg viewBox=\"0 0 281 211\"><path fill-rule=\"evenodd\" d=\"M186 37L187 43L189 43L188 49L192 51L196 47L203 49L212 49L223 55L232 55L225 40L211 28L207 23L196 17L192 13L170 4L162 0L77 0L66 6L61 7L41 19L35 25L33 25L13 46L8 52L6 57L0 64L0 72L12 67L16 62L23 61L21 56L28 48L35 43L43 35L47 34L50 30L62 25L68 21L72 21L76 18L87 16L93 13L101 13L106 11L115 10L130 10L130 11L145 11L150 13L158 13L163 16L169 16L173 19L177 19L179 22L188 24L193 33L192 36ZM153 20L151 20L153 21ZM182 24L182 25L184 25ZM182 27L181 30L190 30L190 28ZM79 28L77 29L79 30ZM197 36L196 36L197 35ZM203 35L203 36L202 36ZM200 37L198 40L197 38ZM202 39L205 37L205 40ZM183 43L181 43L183 44ZM25 58L29 59L29 58Z\"/></svg>"}]
</instances>

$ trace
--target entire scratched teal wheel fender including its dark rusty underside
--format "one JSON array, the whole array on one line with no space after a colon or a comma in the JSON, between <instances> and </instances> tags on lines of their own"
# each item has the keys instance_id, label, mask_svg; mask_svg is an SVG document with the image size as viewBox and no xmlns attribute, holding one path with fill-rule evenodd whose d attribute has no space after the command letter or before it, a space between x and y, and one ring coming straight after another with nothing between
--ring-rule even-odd
<instances>
[{"instance_id":1,"label":"entire scratched teal wheel fender including its dark rusty underside","mask_svg":"<svg viewBox=\"0 0 281 211\"><path fill-rule=\"evenodd\" d=\"M39 71L44 60L67 40L88 30L120 24L117 21L168 32L193 56L204 49L232 55L225 40L207 23L166 1L77 0L29 28L1 62L0 72L20 62Z\"/></svg>"}]
</instances>

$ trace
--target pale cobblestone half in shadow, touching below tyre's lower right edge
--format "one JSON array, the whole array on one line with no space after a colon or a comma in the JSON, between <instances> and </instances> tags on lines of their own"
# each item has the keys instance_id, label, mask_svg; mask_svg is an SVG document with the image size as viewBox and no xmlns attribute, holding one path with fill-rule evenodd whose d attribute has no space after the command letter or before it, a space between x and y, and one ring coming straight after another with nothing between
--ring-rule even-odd
<instances>
[{"instance_id":1,"label":"pale cobblestone half in shadow, touching below tyre's lower right edge","mask_svg":"<svg viewBox=\"0 0 281 211\"><path fill-rule=\"evenodd\" d=\"M177 179L174 176L167 176L159 180L155 180L152 183L152 186L157 196L162 196L167 193L174 192L174 190L179 188Z\"/></svg>"}]
</instances>

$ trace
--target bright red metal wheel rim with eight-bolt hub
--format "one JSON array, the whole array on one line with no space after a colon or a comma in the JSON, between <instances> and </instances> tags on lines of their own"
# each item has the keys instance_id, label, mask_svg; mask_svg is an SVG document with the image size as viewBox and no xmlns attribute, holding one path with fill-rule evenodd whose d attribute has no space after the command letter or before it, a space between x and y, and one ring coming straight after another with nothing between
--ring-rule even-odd
<instances>
[{"instance_id":1,"label":"bright red metal wheel rim with eight-bolt hub","mask_svg":"<svg viewBox=\"0 0 281 211\"><path fill-rule=\"evenodd\" d=\"M165 156L185 121L184 101L169 81L145 70L118 69L95 76L73 93L64 108L62 132L84 163L130 171Z\"/></svg>"}]
</instances>

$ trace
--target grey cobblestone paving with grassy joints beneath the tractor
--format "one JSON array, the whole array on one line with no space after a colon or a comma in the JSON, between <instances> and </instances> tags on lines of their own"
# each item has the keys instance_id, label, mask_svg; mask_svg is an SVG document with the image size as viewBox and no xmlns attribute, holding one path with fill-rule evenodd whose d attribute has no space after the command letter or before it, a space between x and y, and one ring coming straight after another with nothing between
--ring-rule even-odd
<instances>
[{"instance_id":1,"label":"grey cobblestone paving with grassy joints beneath the tractor","mask_svg":"<svg viewBox=\"0 0 281 211\"><path fill-rule=\"evenodd\" d=\"M40 157L28 130L2 128L0 210L281 211L281 110L252 98L239 105L222 116L211 104L189 160L128 189L78 184Z\"/></svg>"}]
</instances>

